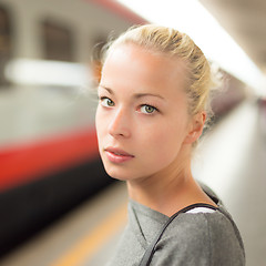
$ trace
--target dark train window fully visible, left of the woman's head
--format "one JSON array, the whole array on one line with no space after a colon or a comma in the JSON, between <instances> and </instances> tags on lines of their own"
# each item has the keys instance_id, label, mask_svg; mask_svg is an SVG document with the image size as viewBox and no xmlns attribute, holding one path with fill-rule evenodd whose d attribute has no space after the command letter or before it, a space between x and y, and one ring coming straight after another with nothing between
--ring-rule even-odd
<instances>
[{"instance_id":1,"label":"dark train window fully visible, left of the woman's head","mask_svg":"<svg viewBox=\"0 0 266 266\"><path fill-rule=\"evenodd\" d=\"M64 25L45 20L41 24L43 58L47 60L73 61L72 32Z\"/></svg>"}]
</instances>

